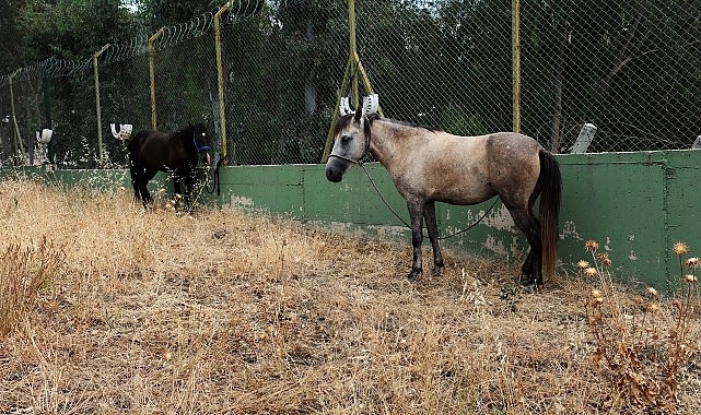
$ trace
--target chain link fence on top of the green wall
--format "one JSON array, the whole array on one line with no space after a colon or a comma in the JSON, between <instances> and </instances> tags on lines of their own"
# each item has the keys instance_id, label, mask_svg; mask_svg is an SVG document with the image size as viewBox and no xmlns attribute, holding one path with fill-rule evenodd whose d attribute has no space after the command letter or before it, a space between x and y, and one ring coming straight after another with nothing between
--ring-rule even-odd
<instances>
[{"instance_id":1,"label":"chain link fence on top of the green wall","mask_svg":"<svg viewBox=\"0 0 701 415\"><path fill-rule=\"evenodd\" d=\"M476 135L513 130L516 103L521 131L556 153L587 122L597 127L589 152L690 149L701 135L701 0L513 4L358 0L358 56L385 116ZM230 5L217 14L219 44L208 13L85 61L49 59L0 76L2 163L46 154L65 168L125 167L110 124L173 131L201 121L227 164L322 161L349 94L340 91L349 4ZM47 149L35 139L43 128L54 130Z\"/></svg>"}]
</instances>

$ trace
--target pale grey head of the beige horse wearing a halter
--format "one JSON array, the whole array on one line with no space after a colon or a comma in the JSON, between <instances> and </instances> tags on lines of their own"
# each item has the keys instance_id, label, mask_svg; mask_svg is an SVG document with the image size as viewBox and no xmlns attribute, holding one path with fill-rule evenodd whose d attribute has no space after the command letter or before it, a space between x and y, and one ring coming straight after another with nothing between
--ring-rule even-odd
<instances>
[{"instance_id":1,"label":"pale grey head of the beige horse wearing a halter","mask_svg":"<svg viewBox=\"0 0 701 415\"><path fill-rule=\"evenodd\" d=\"M376 117L377 95L365 97L362 111L352 112L348 98L341 99L341 118L334 128L334 147L326 162L326 178L339 182L353 164L370 150L370 126Z\"/></svg>"}]
</instances>

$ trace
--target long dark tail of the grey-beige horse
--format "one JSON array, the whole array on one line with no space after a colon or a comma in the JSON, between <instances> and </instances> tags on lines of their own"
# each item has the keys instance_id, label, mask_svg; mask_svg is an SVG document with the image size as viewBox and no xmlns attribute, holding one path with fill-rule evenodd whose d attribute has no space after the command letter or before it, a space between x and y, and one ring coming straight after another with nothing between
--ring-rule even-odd
<instances>
[{"instance_id":1,"label":"long dark tail of the grey-beige horse","mask_svg":"<svg viewBox=\"0 0 701 415\"><path fill-rule=\"evenodd\" d=\"M560 233L558 221L560 216L560 197L562 178L560 166L552 154L540 150L540 226L542 244L542 263L546 277L554 276L554 265L558 260L558 242ZM552 281L552 280L551 280Z\"/></svg>"}]
</instances>

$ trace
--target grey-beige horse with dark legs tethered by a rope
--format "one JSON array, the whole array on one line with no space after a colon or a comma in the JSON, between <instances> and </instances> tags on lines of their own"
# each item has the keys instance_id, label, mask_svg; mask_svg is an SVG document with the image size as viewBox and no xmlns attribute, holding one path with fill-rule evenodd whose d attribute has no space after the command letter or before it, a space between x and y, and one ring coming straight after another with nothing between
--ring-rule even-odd
<instances>
[{"instance_id":1,"label":"grey-beige horse with dark legs tethered by a rope","mask_svg":"<svg viewBox=\"0 0 701 415\"><path fill-rule=\"evenodd\" d=\"M326 177L338 182L346 170L371 153L388 171L407 200L411 217L413 263L408 275L422 273L423 221L433 247L433 274L443 269L434 202L476 204L494 195L525 234L530 251L521 281L533 288L554 274L558 257L560 168L556 158L534 139L514 132L458 137L443 131L379 118L377 98L365 98L363 110L349 112L335 127L335 142L326 163ZM540 195L540 220L533 213Z\"/></svg>"}]
</instances>

